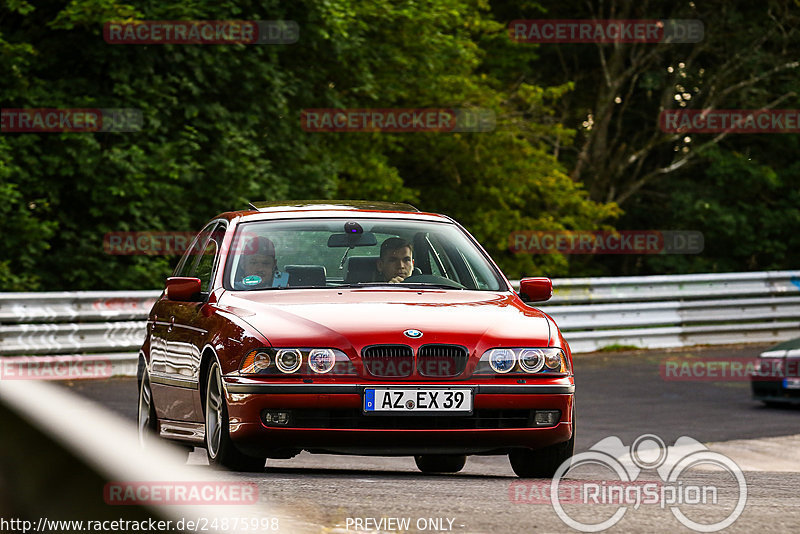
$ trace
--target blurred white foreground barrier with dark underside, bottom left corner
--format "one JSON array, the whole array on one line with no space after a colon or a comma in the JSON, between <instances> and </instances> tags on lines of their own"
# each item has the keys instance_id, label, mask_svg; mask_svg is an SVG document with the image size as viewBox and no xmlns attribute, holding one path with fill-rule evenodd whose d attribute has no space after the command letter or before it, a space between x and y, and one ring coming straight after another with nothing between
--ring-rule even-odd
<instances>
[{"instance_id":1,"label":"blurred white foreground barrier with dark underside, bottom left corner","mask_svg":"<svg viewBox=\"0 0 800 534\"><path fill-rule=\"evenodd\" d=\"M90 521L109 532L204 534L243 532L228 526L255 521L265 532L272 518L280 532L323 528L259 498L251 481L185 465L186 452L166 441L142 448L135 422L43 380L0 380L0 452L5 521L24 518L3 532L101 530ZM122 490L115 494L109 486L135 493L126 490L119 502ZM191 488L202 498L186 498ZM220 488L227 498L216 496ZM237 502L242 488L253 491L254 501ZM185 490L182 498L179 489Z\"/></svg>"}]
</instances>

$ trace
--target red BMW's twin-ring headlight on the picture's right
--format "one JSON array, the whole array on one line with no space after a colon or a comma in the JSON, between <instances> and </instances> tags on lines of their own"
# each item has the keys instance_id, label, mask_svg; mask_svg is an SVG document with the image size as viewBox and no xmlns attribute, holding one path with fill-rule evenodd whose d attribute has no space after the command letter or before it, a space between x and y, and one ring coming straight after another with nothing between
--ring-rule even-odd
<instances>
[{"instance_id":1,"label":"red BMW's twin-ring headlight on the picture's right","mask_svg":"<svg viewBox=\"0 0 800 534\"><path fill-rule=\"evenodd\" d=\"M476 375L493 374L568 374L569 361L557 347L495 348L483 353Z\"/></svg>"}]
</instances>

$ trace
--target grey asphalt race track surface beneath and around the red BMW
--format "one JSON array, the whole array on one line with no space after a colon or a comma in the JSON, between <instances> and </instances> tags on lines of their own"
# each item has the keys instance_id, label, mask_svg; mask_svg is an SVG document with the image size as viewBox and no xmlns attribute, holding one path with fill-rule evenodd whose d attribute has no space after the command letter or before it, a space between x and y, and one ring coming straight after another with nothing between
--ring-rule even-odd
<instances>
[{"instance_id":1,"label":"grey asphalt race track surface beneath and around the red BMW","mask_svg":"<svg viewBox=\"0 0 800 534\"><path fill-rule=\"evenodd\" d=\"M673 381L660 372L667 359L695 362L704 358L750 358L763 346L674 352L620 352L575 358L578 435L576 453L609 436L627 446L642 434L655 434L667 445L680 436L699 442L761 440L800 434L800 409L766 408L750 398L746 381ZM74 382L72 390L96 399L131 420L136 416L135 379ZM784 439L784 438L781 438ZM756 449L762 441L735 442ZM800 443L790 441L789 443ZM795 447L792 446L794 449ZM727 449L727 450L730 450ZM787 451L788 452L788 451ZM791 457L790 457L791 459ZM190 464L205 464L196 449ZM789 462L790 466L792 465ZM769 469L769 467L767 467ZM725 532L800 531L800 465L784 472L747 471L746 506ZM796 471L796 472L786 472ZM419 532L575 532L546 498L549 481L514 477L506 457L470 457L452 476L419 473L411 458L310 455L269 460L258 474L230 474L255 482L259 502L292 510L307 532L403 530ZM618 480L609 468L582 466L567 479L575 484ZM636 478L658 483L652 470ZM700 523L721 521L732 513L739 485L731 473L694 469L681 484L714 488L717 502L682 504L678 510ZM667 485L661 482L662 487ZM594 494L597 501L597 493ZM586 499L584 499L585 501ZM666 499L668 500L668 499ZM598 504L599 502L599 504ZM598 523L619 510L618 504L565 501L566 517ZM383 522L381 523L381 521ZM408 527L404 521L408 521ZM691 532L670 506L631 503L608 532Z\"/></svg>"}]
</instances>

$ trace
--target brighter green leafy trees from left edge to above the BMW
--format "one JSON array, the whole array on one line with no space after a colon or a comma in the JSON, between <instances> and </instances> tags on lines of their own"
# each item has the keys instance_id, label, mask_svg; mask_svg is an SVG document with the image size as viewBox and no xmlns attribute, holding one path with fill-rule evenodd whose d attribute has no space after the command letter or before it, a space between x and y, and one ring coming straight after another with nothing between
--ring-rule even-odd
<instances>
[{"instance_id":1,"label":"brighter green leafy trees from left edge to above the BMW","mask_svg":"<svg viewBox=\"0 0 800 534\"><path fill-rule=\"evenodd\" d=\"M107 21L170 19L289 19L301 35L284 46L102 39ZM589 224L613 208L589 201L515 116L509 102L519 99L538 100L547 116L559 91L509 87L485 68L482 43L502 36L487 5L468 0L0 6L4 108L136 108L144 117L135 133L3 134L0 228L14 245L0 256L3 289L159 287L174 258L110 256L103 236L197 230L255 199L412 201L463 220L512 276L545 265L557 274L563 259L505 253L508 232ZM322 134L299 120L305 108L426 106L486 107L500 127ZM553 121L541 130L569 141Z\"/></svg>"}]
</instances>

